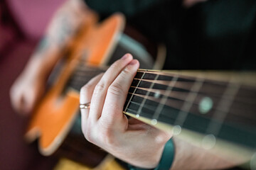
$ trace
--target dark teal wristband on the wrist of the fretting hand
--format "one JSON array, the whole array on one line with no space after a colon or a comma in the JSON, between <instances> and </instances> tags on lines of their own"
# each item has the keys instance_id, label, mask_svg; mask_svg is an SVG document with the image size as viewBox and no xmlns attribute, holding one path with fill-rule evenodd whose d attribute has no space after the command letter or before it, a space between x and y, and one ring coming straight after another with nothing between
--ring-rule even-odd
<instances>
[{"instance_id":1,"label":"dark teal wristband on the wrist of the fretting hand","mask_svg":"<svg viewBox=\"0 0 256 170\"><path fill-rule=\"evenodd\" d=\"M167 170L171 168L171 164L174 162L175 147L174 141L170 139L164 146L164 152L161 156L159 164L152 170ZM147 170L127 164L129 170Z\"/></svg>"}]
</instances>

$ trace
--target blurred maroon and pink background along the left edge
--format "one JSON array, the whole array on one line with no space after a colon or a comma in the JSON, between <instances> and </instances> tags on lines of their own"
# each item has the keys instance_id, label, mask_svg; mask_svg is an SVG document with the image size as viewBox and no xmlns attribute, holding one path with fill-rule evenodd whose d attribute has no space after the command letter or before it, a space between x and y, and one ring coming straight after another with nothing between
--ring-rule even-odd
<instances>
[{"instance_id":1,"label":"blurred maroon and pink background along the left edge","mask_svg":"<svg viewBox=\"0 0 256 170\"><path fill-rule=\"evenodd\" d=\"M63 0L0 1L0 169L52 169L56 159L23 140L28 118L15 113L9 90Z\"/></svg>"}]
</instances>

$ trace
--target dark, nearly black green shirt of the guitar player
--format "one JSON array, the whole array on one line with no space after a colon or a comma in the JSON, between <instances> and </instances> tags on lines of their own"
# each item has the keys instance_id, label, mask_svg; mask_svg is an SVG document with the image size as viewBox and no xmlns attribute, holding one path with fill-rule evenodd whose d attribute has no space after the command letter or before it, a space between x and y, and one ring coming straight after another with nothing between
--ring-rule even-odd
<instances>
[{"instance_id":1,"label":"dark, nearly black green shirt of the guitar player","mask_svg":"<svg viewBox=\"0 0 256 170\"><path fill-rule=\"evenodd\" d=\"M164 69L256 69L256 1L86 0L101 18L127 22L167 48Z\"/></svg>"}]
</instances>

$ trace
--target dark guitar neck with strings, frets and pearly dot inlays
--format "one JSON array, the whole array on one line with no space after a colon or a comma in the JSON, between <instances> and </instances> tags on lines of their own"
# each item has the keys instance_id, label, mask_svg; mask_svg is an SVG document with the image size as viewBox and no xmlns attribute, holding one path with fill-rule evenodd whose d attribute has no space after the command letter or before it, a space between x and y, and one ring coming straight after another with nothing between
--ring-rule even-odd
<instances>
[{"instance_id":1,"label":"dark guitar neck with strings, frets and pearly dot inlays","mask_svg":"<svg viewBox=\"0 0 256 170\"><path fill-rule=\"evenodd\" d=\"M68 86L79 91L106 69L78 67ZM129 89L124 113L139 120L146 118L146 123L156 127L164 123L164 128L171 128L176 135L186 129L255 148L254 77L255 72L139 69Z\"/></svg>"}]
</instances>

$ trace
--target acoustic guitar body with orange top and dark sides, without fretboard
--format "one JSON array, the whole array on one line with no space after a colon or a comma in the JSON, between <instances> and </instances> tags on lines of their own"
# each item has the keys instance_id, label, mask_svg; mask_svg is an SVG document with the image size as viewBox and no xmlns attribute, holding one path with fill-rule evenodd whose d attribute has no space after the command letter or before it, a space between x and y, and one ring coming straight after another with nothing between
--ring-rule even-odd
<instances>
[{"instance_id":1,"label":"acoustic guitar body with orange top and dark sides, without fretboard","mask_svg":"<svg viewBox=\"0 0 256 170\"><path fill-rule=\"evenodd\" d=\"M82 136L79 91L127 52L144 68L161 69L164 64L164 45L155 45L134 28L125 26L121 13L101 23L97 13L87 13L87 23L70 42L68 50L63 52L65 57L50 75L50 89L33 111L25 139L28 142L38 139L39 152L45 156L66 155L89 166L99 164L106 153ZM74 129L78 132L73 132Z\"/></svg>"}]
</instances>

